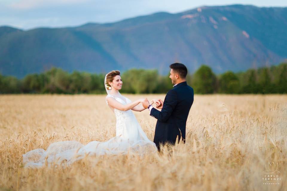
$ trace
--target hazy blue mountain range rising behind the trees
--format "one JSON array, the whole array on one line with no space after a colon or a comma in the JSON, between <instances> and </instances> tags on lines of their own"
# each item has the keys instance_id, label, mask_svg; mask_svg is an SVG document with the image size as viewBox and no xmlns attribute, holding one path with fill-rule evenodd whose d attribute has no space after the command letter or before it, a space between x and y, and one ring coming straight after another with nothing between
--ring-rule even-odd
<instances>
[{"instance_id":1,"label":"hazy blue mountain range rising behind the trees","mask_svg":"<svg viewBox=\"0 0 287 191\"><path fill-rule=\"evenodd\" d=\"M0 73L22 78L51 67L105 73L201 64L216 73L287 58L287 7L228 5L154 13L114 23L21 30L0 27Z\"/></svg>"}]
</instances>

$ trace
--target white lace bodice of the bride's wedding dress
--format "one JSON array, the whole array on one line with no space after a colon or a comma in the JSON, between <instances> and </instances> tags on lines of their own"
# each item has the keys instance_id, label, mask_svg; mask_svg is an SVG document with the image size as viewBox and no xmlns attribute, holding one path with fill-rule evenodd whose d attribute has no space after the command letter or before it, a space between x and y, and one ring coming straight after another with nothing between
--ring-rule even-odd
<instances>
[{"instance_id":1,"label":"white lace bodice of the bride's wedding dress","mask_svg":"<svg viewBox=\"0 0 287 191\"><path fill-rule=\"evenodd\" d=\"M128 98L122 96L125 101L122 98L119 98L117 96L112 96L112 95L107 95L106 98L112 97L115 100L117 100L118 102L120 102L123 105L129 104L132 101L129 100ZM108 104L108 101L106 101L106 103ZM122 110L118 110L116 108L114 108L114 113L116 116L116 136L122 135L123 134L123 130L124 127L126 125L126 121L131 119L131 118L135 118L135 115L132 113L132 110L127 110L127 111L122 111Z\"/></svg>"}]
</instances>

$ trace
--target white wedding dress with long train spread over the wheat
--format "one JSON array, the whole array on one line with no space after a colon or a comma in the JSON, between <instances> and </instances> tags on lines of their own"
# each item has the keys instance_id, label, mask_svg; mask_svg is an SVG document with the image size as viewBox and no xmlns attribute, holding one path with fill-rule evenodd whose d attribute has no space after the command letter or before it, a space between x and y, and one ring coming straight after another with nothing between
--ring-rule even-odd
<instances>
[{"instance_id":1,"label":"white wedding dress with long train spread over the wheat","mask_svg":"<svg viewBox=\"0 0 287 191\"><path fill-rule=\"evenodd\" d=\"M121 96L121 95L120 95ZM128 104L131 101L124 97L113 97L121 104ZM125 100L123 100L125 99ZM108 104L108 102L106 102ZM86 145L78 141L61 141L52 143L47 150L35 149L23 155L25 167L43 167L47 162L51 164L72 164L83 159L87 155L119 155L137 153L139 155L156 152L155 143L150 141L132 110L121 111L114 109L116 116L116 136L106 142L91 141ZM64 162L64 163L63 163Z\"/></svg>"}]
</instances>

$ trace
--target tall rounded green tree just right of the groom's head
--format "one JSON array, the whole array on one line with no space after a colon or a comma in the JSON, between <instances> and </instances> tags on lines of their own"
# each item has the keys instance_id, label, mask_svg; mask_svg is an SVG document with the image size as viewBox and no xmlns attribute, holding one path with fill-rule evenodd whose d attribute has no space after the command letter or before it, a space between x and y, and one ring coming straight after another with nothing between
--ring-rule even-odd
<instances>
[{"instance_id":1,"label":"tall rounded green tree just right of the groom's head","mask_svg":"<svg viewBox=\"0 0 287 191\"><path fill-rule=\"evenodd\" d=\"M216 76L211 68L202 65L193 75L192 87L195 93L215 93L216 92Z\"/></svg>"}]
</instances>

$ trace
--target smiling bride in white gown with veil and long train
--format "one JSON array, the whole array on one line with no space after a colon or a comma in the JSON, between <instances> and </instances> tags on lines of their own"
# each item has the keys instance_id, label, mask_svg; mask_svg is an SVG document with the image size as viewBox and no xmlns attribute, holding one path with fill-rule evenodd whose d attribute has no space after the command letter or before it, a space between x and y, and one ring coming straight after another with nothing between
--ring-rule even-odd
<instances>
[{"instance_id":1,"label":"smiling bride in white gown with veil and long train","mask_svg":"<svg viewBox=\"0 0 287 191\"><path fill-rule=\"evenodd\" d=\"M105 154L126 154L131 152L140 155L150 152L156 152L155 143L150 141L144 131L141 129L135 115L131 110L143 111L145 108L140 105L144 99L130 101L122 96L119 90L123 82L120 78L120 71L113 70L105 77L105 87L108 95L106 103L112 109L116 116L116 136L106 142L91 141L86 145L78 141L61 141L50 144L44 149L31 150L23 155L25 167L37 168L43 167L47 161L48 165L72 164L83 159L87 155L105 155ZM149 101L150 104L156 100Z\"/></svg>"}]
</instances>

